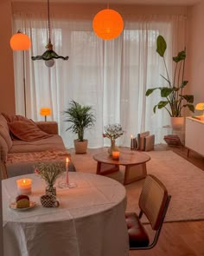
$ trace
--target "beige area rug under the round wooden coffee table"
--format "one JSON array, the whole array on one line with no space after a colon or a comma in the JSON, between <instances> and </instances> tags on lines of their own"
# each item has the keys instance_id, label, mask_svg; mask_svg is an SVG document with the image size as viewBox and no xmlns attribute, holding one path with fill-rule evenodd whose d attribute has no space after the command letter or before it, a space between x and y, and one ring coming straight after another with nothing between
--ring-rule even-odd
<instances>
[{"instance_id":1,"label":"beige area rug under the round wooden coffee table","mask_svg":"<svg viewBox=\"0 0 204 256\"><path fill-rule=\"evenodd\" d=\"M92 154L107 148L90 149L87 154L72 153L73 164L77 171L96 173L97 162ZM172 198L165 222L183 220L204 220L204 171L195 167L173 151L150 151L151 160L147 163L148 174L154 174L167 187ZM109 174L119 182L124 179L124 167L120 171ZM126 185L126 211L138 213L138 198L143 180ZM143 220L145 222L145 220Z\"/></svg>"}]
</instances>

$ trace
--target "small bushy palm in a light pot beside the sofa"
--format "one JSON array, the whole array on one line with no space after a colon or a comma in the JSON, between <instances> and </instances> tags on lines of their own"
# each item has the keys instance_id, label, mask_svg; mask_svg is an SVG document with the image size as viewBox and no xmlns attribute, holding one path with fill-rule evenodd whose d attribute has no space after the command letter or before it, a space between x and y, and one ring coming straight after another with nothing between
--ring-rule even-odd
<instances>
[{"instance_id":1,"label":"small bushy palm in a light pot beside the sofa","mask_svg":"<svg viewBox=\"0 0 204 256\"><path fill-rule=\"evenodd\" d=\"M92 107L82 106L80 103L72 100L64 114L67 115L65 121L69 123L66 131L72 130L74 134L78 135L78 139L73 141L75 153L85 154L88 141L84 139L84 132L87 128L92 128L96 121L96 117L92 113Z\"/></svg>"}]
</instances>

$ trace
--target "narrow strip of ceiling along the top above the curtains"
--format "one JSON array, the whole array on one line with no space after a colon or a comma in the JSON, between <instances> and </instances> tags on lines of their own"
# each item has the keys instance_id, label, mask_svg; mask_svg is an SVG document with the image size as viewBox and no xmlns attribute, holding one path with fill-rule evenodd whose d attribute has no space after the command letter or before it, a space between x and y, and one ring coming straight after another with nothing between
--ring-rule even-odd
<instances>
[{"instance_id":1,"label":"narrow strip of ceiling along the top above the curtains","mask_svg":"<svg viewBox=\"0 0 204 256\"><path fill-rule=\"evenodd\" d=\"M47 0L11 0L12 2L43 2ZM118 4L143 4L143 5L194 5L201 0L50 0L52 3L118 3Z\"/></svg>"}]
</instances>

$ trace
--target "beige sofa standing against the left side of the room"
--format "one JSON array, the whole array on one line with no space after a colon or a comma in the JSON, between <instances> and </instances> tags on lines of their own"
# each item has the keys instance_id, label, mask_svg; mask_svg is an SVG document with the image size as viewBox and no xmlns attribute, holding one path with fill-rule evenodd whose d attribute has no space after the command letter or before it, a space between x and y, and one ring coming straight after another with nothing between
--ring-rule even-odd
<instances>
[{"instance_id":1,"label":"beige sofa standing against the left side of the room","mask_svg":"<svg viewBox=\"0 0 204 256\"><path fill-rule=\"evenodd\" d=\"M0 160L4 179L34 173L39 161L65 161L67 156L70 158L58 135L56 121L35 121L35 124L49 137L36 141L13 140L8 121L0 115ZM71 161L69 170L75 171Z\"/></svg>"}]
</instances>

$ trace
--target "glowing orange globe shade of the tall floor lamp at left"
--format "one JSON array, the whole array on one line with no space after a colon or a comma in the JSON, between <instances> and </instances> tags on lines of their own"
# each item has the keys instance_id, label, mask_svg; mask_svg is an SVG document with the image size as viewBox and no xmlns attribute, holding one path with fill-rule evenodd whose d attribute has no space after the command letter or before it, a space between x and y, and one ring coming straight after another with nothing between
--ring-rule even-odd
<instances>
[{"instance_id":1,"label":"glowing orange globe shade of the tall floor lamp at left","mask_svg":"<svg viewBox=\"0 0 204 256\"><path fill-rule=\"evenodd\" d=\"M13 50L26 50L31 46L31 42L29 36L23 34L21 30L18 30L16 34L14 34L10 38L10 47Z\"/></svg>"}]
</instances>

